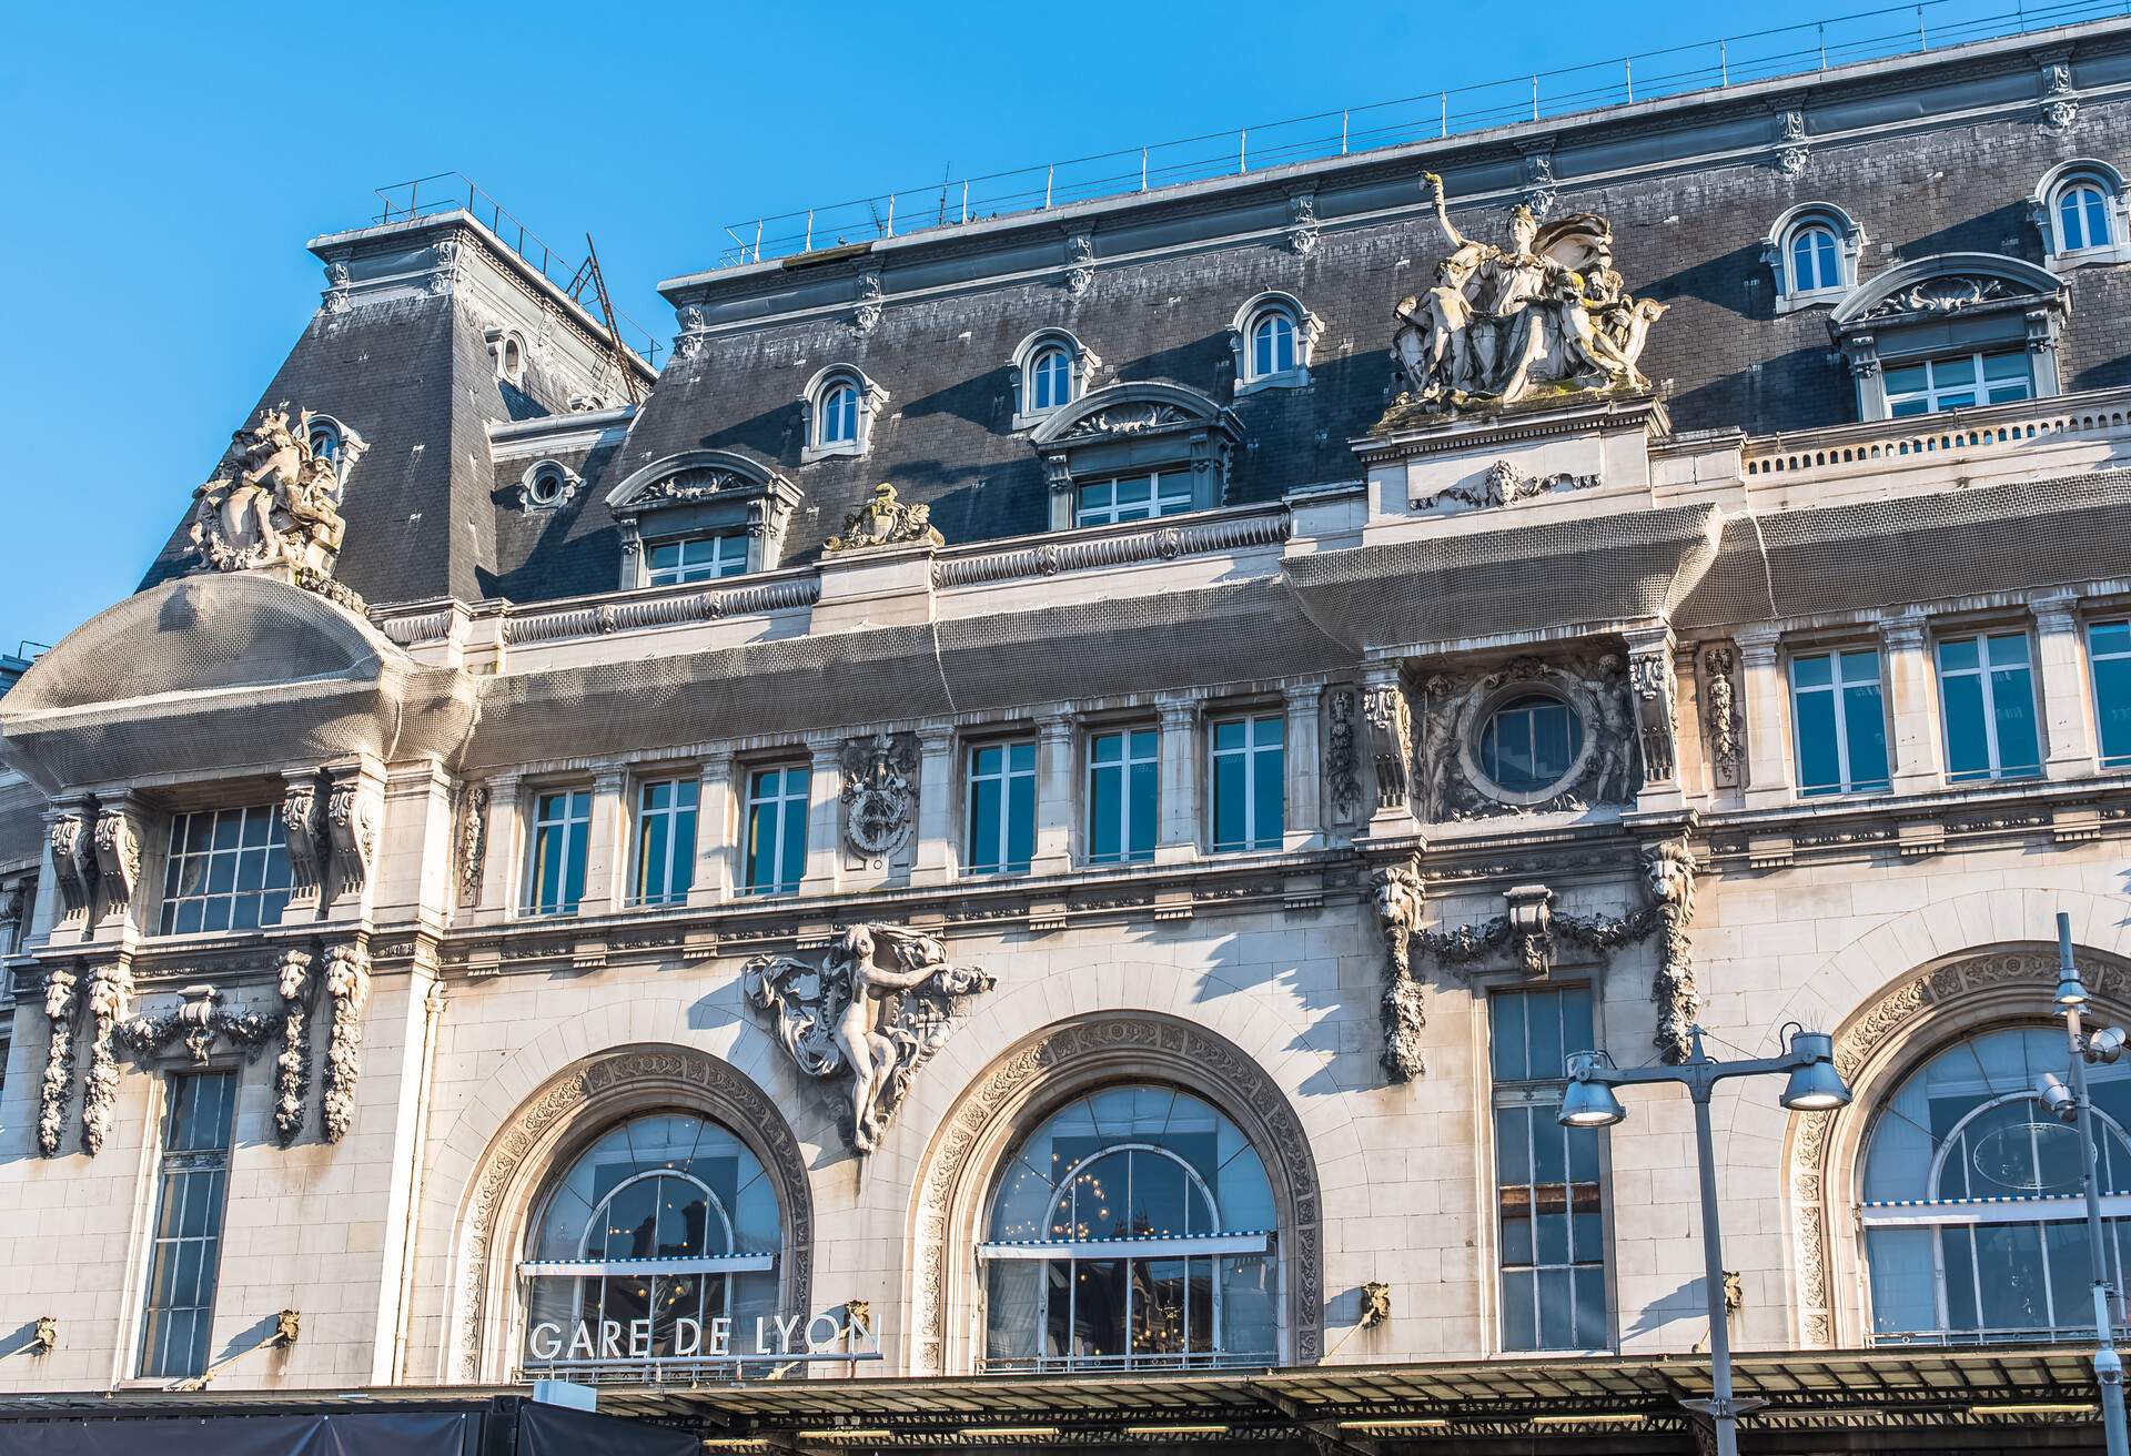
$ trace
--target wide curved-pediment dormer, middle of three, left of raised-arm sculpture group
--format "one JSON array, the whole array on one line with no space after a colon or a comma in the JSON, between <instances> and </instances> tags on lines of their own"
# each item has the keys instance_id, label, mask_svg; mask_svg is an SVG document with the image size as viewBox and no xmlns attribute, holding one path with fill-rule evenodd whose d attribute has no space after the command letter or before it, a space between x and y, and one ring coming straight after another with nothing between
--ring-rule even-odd
<instances>
[{"instance_id":1,"label":"wide curved-pediment dormer, middle of three, left of raised-arm sculpture group","mask_svg":"<svg viewBox=\"0 0 2131 1456\"><path fill-rule=\"evenodd\" d=\"M1051 480L1053 531L1213 509L1240 441L1232 409L1155 382L1091 390L1029 433Z\"/></svg>"}]
</instances>

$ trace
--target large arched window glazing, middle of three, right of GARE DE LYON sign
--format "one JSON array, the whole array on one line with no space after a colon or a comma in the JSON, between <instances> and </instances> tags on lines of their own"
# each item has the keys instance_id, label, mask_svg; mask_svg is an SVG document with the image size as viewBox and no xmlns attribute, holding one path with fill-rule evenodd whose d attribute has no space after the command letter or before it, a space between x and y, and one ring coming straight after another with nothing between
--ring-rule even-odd
<instances>
[{"instance_id":1,"label":"large arched window glazing, middle of three, right of GARE DE LYON sign","mask_svg":"<svg viewBox=\"0 0 2131 1456\"><path fill-rule=\"evenodd\" d=\"M1251 1140L1195 1096L1068 1104L991 1194L985 1369L1272 1364L1274 1222Z\"/></svg>"}]
</instances>

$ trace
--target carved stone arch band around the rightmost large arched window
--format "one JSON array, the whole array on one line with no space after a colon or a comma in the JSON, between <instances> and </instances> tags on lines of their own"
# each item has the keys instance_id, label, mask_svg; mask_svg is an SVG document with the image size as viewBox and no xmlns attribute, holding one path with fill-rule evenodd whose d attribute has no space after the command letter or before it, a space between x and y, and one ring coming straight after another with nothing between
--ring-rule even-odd
<instances>
[{"instance_id":1,"label":"carved stone arch band around the rightmost large arched window","mask_svg":"<svg viewBox=\"0 0 2131 1456\"><path fill-rule=\"evenodd\" d=\"M2118 966L2095 964L2080 953L2088 989L2114 1004L2131 1000L2131 974ZM1835 1070L1852 1087L1858 1074L1880 1057L1888 1042L1914 1028L1935 1008L1969 996L2018 985L2056 981L2054 951L1992 951L1909 976L1865 1013L1854 1017L1835 1038ZM2037 1002L2039 1004L2039 1002ZM1856 1115L1869 1113L1860 1104ZM1799 1258L1799 1320L1807 1345L1835 1343L1833 1285L1833 1211L1828 1209L1828 1153L1835 1143L1835 1119L1843 1113L1803 1113L1796 1117L1790 1155L1790 1204Z\"/></svg>"}]
</instances>

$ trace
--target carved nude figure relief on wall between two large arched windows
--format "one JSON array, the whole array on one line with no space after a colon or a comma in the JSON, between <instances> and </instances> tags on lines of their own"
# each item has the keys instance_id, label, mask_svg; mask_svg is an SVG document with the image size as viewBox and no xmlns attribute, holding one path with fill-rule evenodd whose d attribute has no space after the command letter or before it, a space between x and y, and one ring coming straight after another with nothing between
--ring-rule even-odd
<instances>
[{"instance_id":1,"label":"carved nude figure relief on wall between two large arched windows","mask_svg":"<svg viewBox=\"0 0 2131 1456\"><path fill-rule=\"evenodd\" d=\"M778 1040L808 1077L846 1081L844 1136L861 1153L880 1134L910 1077L946 1045L955 1000L993 987L976 966L953 966L933 936L852 925L818 966L757 955L746 996L776 1017Z\"/></svg>"}]
</instances>

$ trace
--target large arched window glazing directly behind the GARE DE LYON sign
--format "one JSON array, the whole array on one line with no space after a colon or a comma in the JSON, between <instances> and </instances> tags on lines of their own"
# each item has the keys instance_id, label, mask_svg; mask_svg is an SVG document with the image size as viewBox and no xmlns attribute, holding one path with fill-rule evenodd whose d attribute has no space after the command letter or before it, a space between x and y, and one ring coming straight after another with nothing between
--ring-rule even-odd
<instances>
[{"instance_id":1,"label":"large arched window glazing directly behind the GARE DE LYON sign","mask_svg":"<svg viewBox=\"0 0 2131 1456\"><path fill-rule=\"evenodd\" d=\"M718 1123L609 1128L543 1196L526 1256L526 1369L710 1354L714 1320L776 1313L778 1198Z\"/></svg>"}]
</instances>

